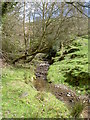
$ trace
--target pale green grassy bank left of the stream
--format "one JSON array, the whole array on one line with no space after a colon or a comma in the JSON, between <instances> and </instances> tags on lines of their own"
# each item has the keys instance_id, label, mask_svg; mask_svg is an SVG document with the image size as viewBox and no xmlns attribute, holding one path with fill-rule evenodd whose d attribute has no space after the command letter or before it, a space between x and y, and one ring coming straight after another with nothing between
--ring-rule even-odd
<instances>
[{"instance_id":1,"label":"pale green grassy bank left of the stream","mask_svg":"<svg viewBox=\"0 0 90 120\"><path fill-rule=\"evenodd\" d=\"M3 68L3 118L69 118L70 111L63 102L34 88L33 76L32 69Z\"/></svg>"}]
</instances>

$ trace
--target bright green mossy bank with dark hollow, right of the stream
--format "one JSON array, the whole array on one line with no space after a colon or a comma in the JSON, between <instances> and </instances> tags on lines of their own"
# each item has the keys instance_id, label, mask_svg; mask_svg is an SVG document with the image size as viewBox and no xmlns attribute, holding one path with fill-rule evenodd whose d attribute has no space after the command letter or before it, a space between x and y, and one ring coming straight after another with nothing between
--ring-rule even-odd
<instances>
[{"instance_id":1,"label":"bright green mossy bank with dark hollow, right of the stream","mask_svg":"<svg viewBox=\"0 0 90 120\"><path fill-rule=\"evenodd\" d=\"M55 62L48 71L48 81L66 84L80 94L89 93L88 39L77 38L65 48L65 52L64 60L59 60L60 52L54 58Z\"/></svg>"}]
</instances>

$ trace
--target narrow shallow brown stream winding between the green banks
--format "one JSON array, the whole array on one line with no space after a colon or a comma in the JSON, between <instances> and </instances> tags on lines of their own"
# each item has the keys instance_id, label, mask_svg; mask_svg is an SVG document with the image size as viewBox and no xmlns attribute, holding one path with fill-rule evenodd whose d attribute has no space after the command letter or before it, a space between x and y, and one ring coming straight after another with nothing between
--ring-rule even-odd
<instances>
[{"instance_id":1,"label":"narrow shallow brown stream winding between the green banks","mask_svg":"<svg viewBox=\"0 0 90 120\"><path fill-rule=\"evenodd\" d=\"M49 64L47 61L43 61L36 67L35 75L36 80L34 86L37 90L49 91L56 96L57 99L63 101L69 107L73 107L78 101L87 104L87 96L77 96L75 91L71 90L69 87L63 84L53 84L47 82L47 71L49 69ZM82 112L84 118L88 118L88 107L86 107Z\"/></svg>"}]
</instances>

